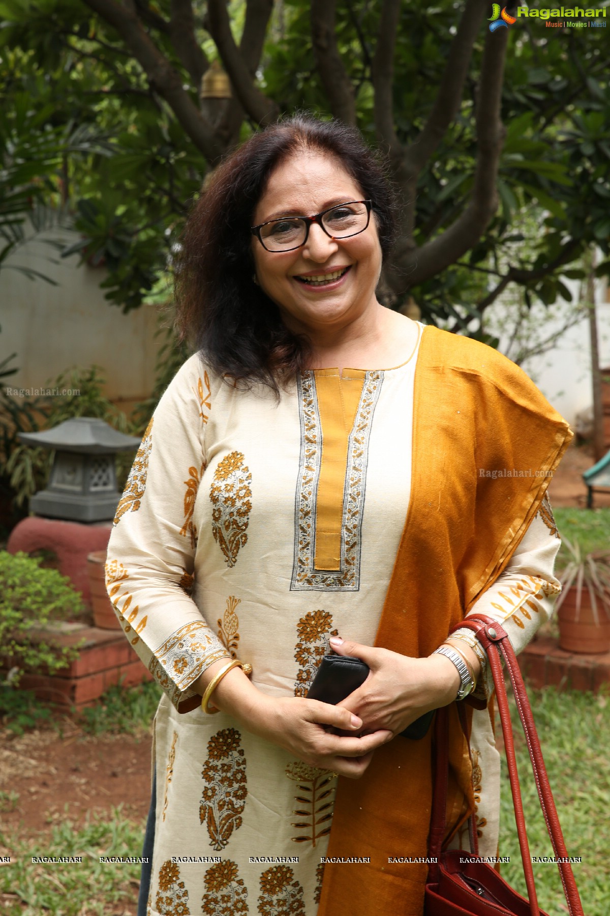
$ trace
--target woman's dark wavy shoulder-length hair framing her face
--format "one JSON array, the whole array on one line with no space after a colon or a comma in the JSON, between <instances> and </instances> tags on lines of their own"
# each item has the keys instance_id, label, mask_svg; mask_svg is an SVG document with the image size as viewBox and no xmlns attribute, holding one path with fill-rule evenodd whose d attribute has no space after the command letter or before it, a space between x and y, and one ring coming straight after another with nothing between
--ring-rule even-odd
<instances>
[{"instance_id":1,"label":"woman's dark wavy shoulder-length hair framing her face","mask_svg":"<svg viewBox=\"0 0 610 916\"><path fill-rule=\"evenodd\" d=\"M387 169L354 127L296 114L254 134L219 165L193 208L177 256L177 329L219 375L262 382L279 394L310 353L253 281L250 227L270 175L301 150L337 158L373 204L381 252L394 239ZM257 243L258 244L258 243Z\"/></svg>"}]
</instances>

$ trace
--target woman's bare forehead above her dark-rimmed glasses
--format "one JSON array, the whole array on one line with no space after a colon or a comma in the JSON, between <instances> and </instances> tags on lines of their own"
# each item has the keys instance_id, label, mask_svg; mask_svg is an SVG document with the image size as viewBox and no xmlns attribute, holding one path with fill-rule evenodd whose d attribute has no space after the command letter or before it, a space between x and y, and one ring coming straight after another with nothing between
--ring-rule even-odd
<instances>
[{"instance_id":1,"label":"woman's bare forehead above her dark-rimmed glasses","mask_svg":"<svg viewBox=\"0 0 610 916\"><path fill-rule=\"evenodd\" d=\"M358 181L340 159L316 150L303 150L273 169L256 206L255 218L259 223L284 213L316 213L326 206L361 196Z\"/></svg>"}]
</instances>

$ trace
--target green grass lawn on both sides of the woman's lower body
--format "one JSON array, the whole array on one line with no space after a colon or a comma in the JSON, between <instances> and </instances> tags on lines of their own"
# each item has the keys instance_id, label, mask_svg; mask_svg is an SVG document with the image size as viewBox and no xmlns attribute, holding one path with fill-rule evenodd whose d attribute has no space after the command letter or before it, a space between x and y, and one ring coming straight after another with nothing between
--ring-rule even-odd
<instances>
[{"instance_id":1,"label":"green grass lawn on both sides of the woman's lower body","mask_svg":"<svg viewBox=\"0 0 610 916\"><path fill-rule=\"evenodd\" d=\"M144 705L154 709L155 694L141 689L123 692L125 708L119 714L123 729L142 725ZM607 693L563 692L553 688L530 690L540 743L558 807L570 856L582 856L573 865L574 876L586 916L610 913L610 859L607 856L607 811L610 802L610 697ZM117 713L119 697L113 692L100 704L89 723L93 733L104 731ZM105 707L105 709L104 709ZM138 714L134 715L135 711ZM147 713L146 713L147 714ZM518 750L519 777L532 856L552 856L551 842L540 812L531 776L529 756L513 708ZM131 723L131 725L130 725ZM10 793L0 793L0 821ZM91 819L77 829L69 820L55 824L44 835L9 843L2 834L0 845L14 850L18 861L0 869L2 916L122 916L137 892L140 867L101 864L100 856L139 855L143 823L126 819L120 809L111 820ZM510 856L502 875L525 893L515 828L508 773L503 762L499 852ZM83 856L80 864L33 864L31 856ZM550 916L564 916L561 879L556 866L535 865L540 906ZM127 910L133 912L133 910Z\"/></svg>"}]
</instances>

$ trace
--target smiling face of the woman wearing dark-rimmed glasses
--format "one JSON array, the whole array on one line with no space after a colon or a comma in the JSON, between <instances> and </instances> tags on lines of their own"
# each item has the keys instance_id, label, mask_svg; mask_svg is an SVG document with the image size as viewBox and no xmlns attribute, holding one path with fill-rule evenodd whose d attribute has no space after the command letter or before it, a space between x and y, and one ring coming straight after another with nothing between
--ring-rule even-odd
<instances>
[{"instance_id":1,"label":"smiling face of the woman wearing dark-rimmed glasses","mask_svg":"<svg viewBox=\"0 0 610 916\"><path fill-rule=\"evenodd\" d=\"M285 326L305 334L327 358L333 343L345 347L346 333L352 342L374 333L382 314L375 295L380 241L367 203L354 202L362 191L336 157L305 149L273 170L254 211L262 230L272 227L275 242L269 250L264 232L252 242L262 291L277 305ZM315 216L286 219L312 211ZM279 213L283 219L278 220ZM292 238L283 249L276 239L283 240L286 232ZM397 317L406 329L407 322Z\"/></svg>"}]
</instances>

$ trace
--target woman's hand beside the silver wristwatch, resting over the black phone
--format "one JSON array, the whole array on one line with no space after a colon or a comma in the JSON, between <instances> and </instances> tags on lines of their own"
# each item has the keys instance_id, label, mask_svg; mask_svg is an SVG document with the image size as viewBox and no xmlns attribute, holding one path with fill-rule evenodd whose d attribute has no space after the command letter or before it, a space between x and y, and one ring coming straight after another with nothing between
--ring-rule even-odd
<instances>
[{"instance_id":1,"label":"woman's hand beside the silver wristwatch, resting over the black phone","mask_svg":"<svg viewBox=\"0 0 610 916\"><path fill-rule=\"evenodd\" d=\"M367 680L341 701L362 719L365 732L388 728L398 735L420 715L455 700L460 676L444 655L412 659L338 637L331 638L330 645L337 655L351 655L369 665Z\"/></svg>"}]
</instances>

